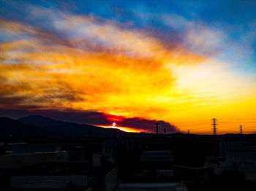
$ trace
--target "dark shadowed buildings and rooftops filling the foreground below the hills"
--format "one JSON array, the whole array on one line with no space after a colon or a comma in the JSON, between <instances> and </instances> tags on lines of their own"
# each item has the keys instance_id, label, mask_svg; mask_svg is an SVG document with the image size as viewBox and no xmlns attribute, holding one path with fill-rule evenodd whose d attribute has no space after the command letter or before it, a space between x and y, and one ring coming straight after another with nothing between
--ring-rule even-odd
<instances>
[{"instance_id":1,"label":"dark shadowed buildings and rooftops filling the foreground below the hills","mask_svg":"<svg viewBox=\"0 0 256 191\"><path fill-rule=\"evenodd\" d=\"M256 190L255 136L9 137L0 190Z\"/></svg>"}]
</instances>

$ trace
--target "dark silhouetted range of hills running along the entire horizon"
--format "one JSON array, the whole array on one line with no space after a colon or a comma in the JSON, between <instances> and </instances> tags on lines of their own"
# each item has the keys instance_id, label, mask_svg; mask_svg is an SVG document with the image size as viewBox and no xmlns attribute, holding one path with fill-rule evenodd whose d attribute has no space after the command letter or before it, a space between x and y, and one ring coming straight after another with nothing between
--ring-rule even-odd
<instances>
[{"instance_id":1,"label":"dark silhouetted range of hills running along the entire horizon","mask_svg":"<svg viewBox=\"0 0 256 191\"><path fill-rule=\"evenodd\" d=\"M12 120L8 117L0 117L0 137L2 136L72 136L72 137L113 137L113 136L132 136L132 137L150 137L157 136L154 133L127 133L113 128L100 128L93 125L77 124L74 122L63 122L53 120L50 117L40 115L30 115L18 120ZM163 134L158 136L165 137ZM227 133L225 135L197 135L184 133L171 133L166 135L174 139L187 138L237 138L241 134ZM256 134L244 134L242 137L254 138Z\"/></svg>"}]
</instances>

